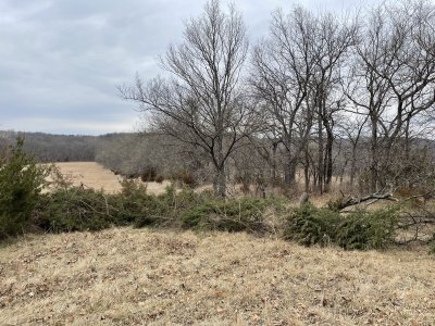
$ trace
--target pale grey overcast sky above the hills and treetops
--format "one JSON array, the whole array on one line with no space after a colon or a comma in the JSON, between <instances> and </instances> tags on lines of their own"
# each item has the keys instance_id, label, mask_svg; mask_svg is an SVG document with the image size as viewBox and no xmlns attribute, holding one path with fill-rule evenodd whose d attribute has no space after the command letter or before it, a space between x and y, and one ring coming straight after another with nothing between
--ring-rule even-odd
<instances>
[{"instance_id":1,"label":"pale grey overcast sky above the hills and treetops","mask_svg":"<svg viewBox=\"0 0 435 326\"><path fill-rule=\"evenodd\" d=\"M271 12L295 3L340 13L377 0L235 0L250 42ZM206 0L0 0L0 130L100 135L137 129L116 85L159 74L157 57L182 39ZM225 3L223 1L223 3Z\"/></svg>"}]
</instances>

